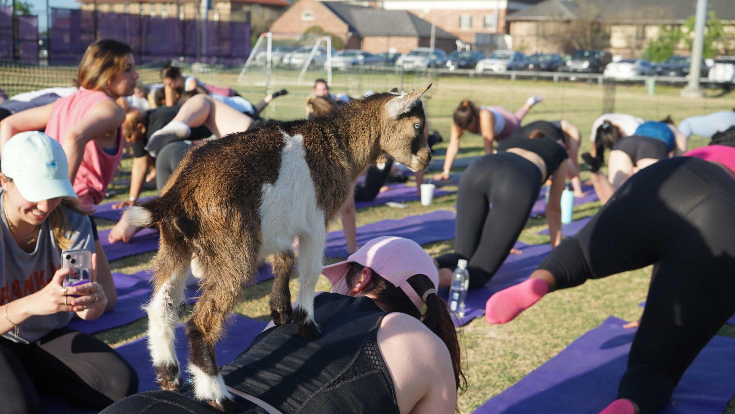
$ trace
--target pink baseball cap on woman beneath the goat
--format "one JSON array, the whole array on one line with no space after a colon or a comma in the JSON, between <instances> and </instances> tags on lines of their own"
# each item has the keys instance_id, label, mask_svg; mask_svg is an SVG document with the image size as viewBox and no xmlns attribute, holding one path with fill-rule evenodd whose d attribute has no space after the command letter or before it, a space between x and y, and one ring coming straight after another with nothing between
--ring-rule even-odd
<instances>
[{"instance_id":1,"label":"pink baseball cap on woman beneath the goat","mask_svg":"<svg viewBox=\"0 0 735 414\"><path fill-rule=\"evenodd\" d=\"M434 260L413 240L393 236L374 238L344 262L324 266L322 274L331 282L332 292L343 295L350 293L345 275L353 262L373 269L388 282L401 288L419 310L423 309L424 303L409 284L409 277L423 274L429 277L434 288L439 285L439 271Z\"/></svg>"}]
</instances>

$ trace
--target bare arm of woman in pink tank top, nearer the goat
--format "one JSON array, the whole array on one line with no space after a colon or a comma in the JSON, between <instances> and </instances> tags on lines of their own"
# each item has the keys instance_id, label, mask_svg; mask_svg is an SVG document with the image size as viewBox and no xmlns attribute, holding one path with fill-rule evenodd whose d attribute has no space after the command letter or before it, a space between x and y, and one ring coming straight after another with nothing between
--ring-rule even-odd
<instances>
[{"instance_id":1,"label":"bare arm of woman in pink tank top, nearer the goat","mask_svg":"<svg viewBox=\"0 0 735 414\"><path fill-rule=\"evenodd\" d=\"M87 143L105 134L115 132L123 121L125 121L125 110L114 101L104 101L94 107L90 116L84 121L72 126L66 132L62 147L69 162L69 181L74 182Z\"/></svg>"}]
</instances>

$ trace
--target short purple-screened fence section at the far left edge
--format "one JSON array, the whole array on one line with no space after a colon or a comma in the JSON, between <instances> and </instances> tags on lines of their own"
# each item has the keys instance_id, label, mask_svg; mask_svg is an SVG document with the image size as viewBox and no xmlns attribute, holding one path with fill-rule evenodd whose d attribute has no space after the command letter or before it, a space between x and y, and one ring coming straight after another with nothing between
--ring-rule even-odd
<instances>
[{"instance_id":1,"label":"short purple-screened fence section at the far left edge","mask_svg":"<svg viewBox=\"0 0 735 414\"><path fill-rule=\"evenodd\" d=\"M38 18L15 15L12 8L0 7L0 60L38 63Z\"/></svg>"}]
</instances>

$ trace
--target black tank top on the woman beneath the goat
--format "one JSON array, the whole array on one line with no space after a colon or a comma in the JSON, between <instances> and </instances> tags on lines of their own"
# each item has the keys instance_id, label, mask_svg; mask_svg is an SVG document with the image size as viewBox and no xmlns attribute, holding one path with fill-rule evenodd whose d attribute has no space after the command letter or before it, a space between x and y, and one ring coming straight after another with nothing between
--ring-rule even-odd
<instances>
[{"instance_id":1,"label":"black tank top on the woman beneath the goat","mask_svg":"<svg viewBox=\"0 0 735 414\"><path fill-rule=\"evenodd\" d=\"M226 385L284 414L400 414L377 345L387 312L367 297L337 293L320 294L314 307L319 338L301 338L293 323L262 332L222 368Z\"/></svg>"}]
</instances>

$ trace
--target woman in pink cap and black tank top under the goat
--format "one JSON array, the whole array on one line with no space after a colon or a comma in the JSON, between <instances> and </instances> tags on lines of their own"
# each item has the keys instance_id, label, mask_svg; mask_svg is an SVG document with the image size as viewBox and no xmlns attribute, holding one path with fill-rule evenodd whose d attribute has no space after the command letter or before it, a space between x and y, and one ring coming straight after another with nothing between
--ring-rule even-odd
<instances>
[{"instance_id":1,"label":"woman in pink cap and black tank top under the goat","mask_svg":"<svg viewBox=\"0 0 735 414\"><path fill-rule=\"evenodd\" d=\"M412 240L376 238L323 274L334 288L315 293L319 338L305 340L293 323L271 322L222 368L235 412L454 413L466 382L429 254ZM155 390L102 413L214 411L188 390Z\"/></svg>"}]
</instances>

